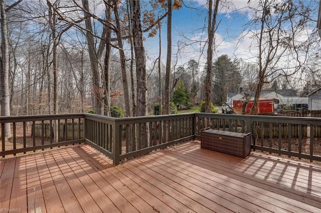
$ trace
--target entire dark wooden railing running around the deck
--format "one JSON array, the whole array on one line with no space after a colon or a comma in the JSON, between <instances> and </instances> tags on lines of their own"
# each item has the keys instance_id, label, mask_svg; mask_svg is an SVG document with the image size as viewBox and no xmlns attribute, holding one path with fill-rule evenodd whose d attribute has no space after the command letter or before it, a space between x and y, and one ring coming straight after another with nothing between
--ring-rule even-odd
<instances>
[{"instance_id":1,"label":"entire dark wooden railing running around the deck","mask_svg":"<svg viewBox=\"0 0 321 213\"><path fill-rule=\"evenodd\" d=\"M53 123L58 125L54 141ZM321 161L321 118L186 113L113 118L96 114L1 117L0 156L86 142L116 165L181 141L200 138L204 128L251 132L251 148ZM4 137L11 123L13 138ZM19 135L19 136L18 136Z\"/></svg>"}]
</instances>

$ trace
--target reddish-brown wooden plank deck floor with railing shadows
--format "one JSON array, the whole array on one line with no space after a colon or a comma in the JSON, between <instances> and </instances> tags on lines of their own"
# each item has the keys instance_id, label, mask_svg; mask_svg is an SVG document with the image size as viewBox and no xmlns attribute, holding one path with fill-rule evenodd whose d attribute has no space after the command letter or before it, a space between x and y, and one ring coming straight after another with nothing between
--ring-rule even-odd
<instances>
[{"instance_id":1,"label":"reddish-brown wooden plank deck floor with railing shadows","mask_svg":"<svg viewBox=\"0 0 321 213\"><path fill-rule=\"evenodd\" d=\"M88 145L0 161L2 211L320 212L321 167L186 142L118 166ZM9 209L9 210L8 210Z\"/></svg>"}]
</instances>

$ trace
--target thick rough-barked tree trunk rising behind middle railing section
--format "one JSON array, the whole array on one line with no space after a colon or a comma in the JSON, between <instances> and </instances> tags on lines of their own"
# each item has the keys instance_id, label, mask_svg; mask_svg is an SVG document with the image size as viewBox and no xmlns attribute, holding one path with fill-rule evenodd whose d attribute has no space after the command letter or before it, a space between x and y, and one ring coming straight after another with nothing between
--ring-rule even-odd
<instances>
[{"instance_id":1,"label":"thick rough-barked tree trunk rising behind middle railing section","mask_svg":"<svg viewBox=\"0 0 321 213\"><path fill-rule=\"evenodd\" d=\"M136 61L136 116L147 115L147 82L146 82L146 60L145 49L143 45L142 29L140 22L140 5L139 0L132 0L132 36Z\"/></svg>"}]
</instances>

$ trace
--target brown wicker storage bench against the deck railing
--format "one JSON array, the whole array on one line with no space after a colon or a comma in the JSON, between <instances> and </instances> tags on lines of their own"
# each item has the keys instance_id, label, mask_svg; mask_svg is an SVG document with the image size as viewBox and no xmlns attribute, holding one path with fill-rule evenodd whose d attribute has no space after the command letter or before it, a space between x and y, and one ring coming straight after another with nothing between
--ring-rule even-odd
<instances>
[{"instance_id":1,"label":"brown wicker storage bench against the deck railing","mask_svg":"<svg viewBox=\"0 0 321 213\"><path fill-rule=\"evenodd\" d=\"M245 158L251 152L251 133L203 130L201 131L201 148Z\"/></svg>"}]
</instances>

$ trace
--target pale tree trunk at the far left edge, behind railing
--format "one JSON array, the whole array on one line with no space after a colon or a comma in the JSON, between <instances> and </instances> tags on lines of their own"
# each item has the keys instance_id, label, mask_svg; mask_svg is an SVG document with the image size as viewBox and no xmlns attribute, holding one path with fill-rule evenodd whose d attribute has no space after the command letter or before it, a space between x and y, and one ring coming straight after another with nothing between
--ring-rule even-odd
<instances>
[{"instance_id":1,"label":"pale tree trunk at the far left edge, behind railing","mask_svg":"<svg viewBox=\"0 0 321 213\"><path fill-rule=\"evenodd\" d=\"M1 12L1 54L0 54L0 104L1 116L10 116L9 94L9 41L5 0L0 0ZM10 123L5 124L5 137L11 137Z\"/></svg>"}]
</instances>

